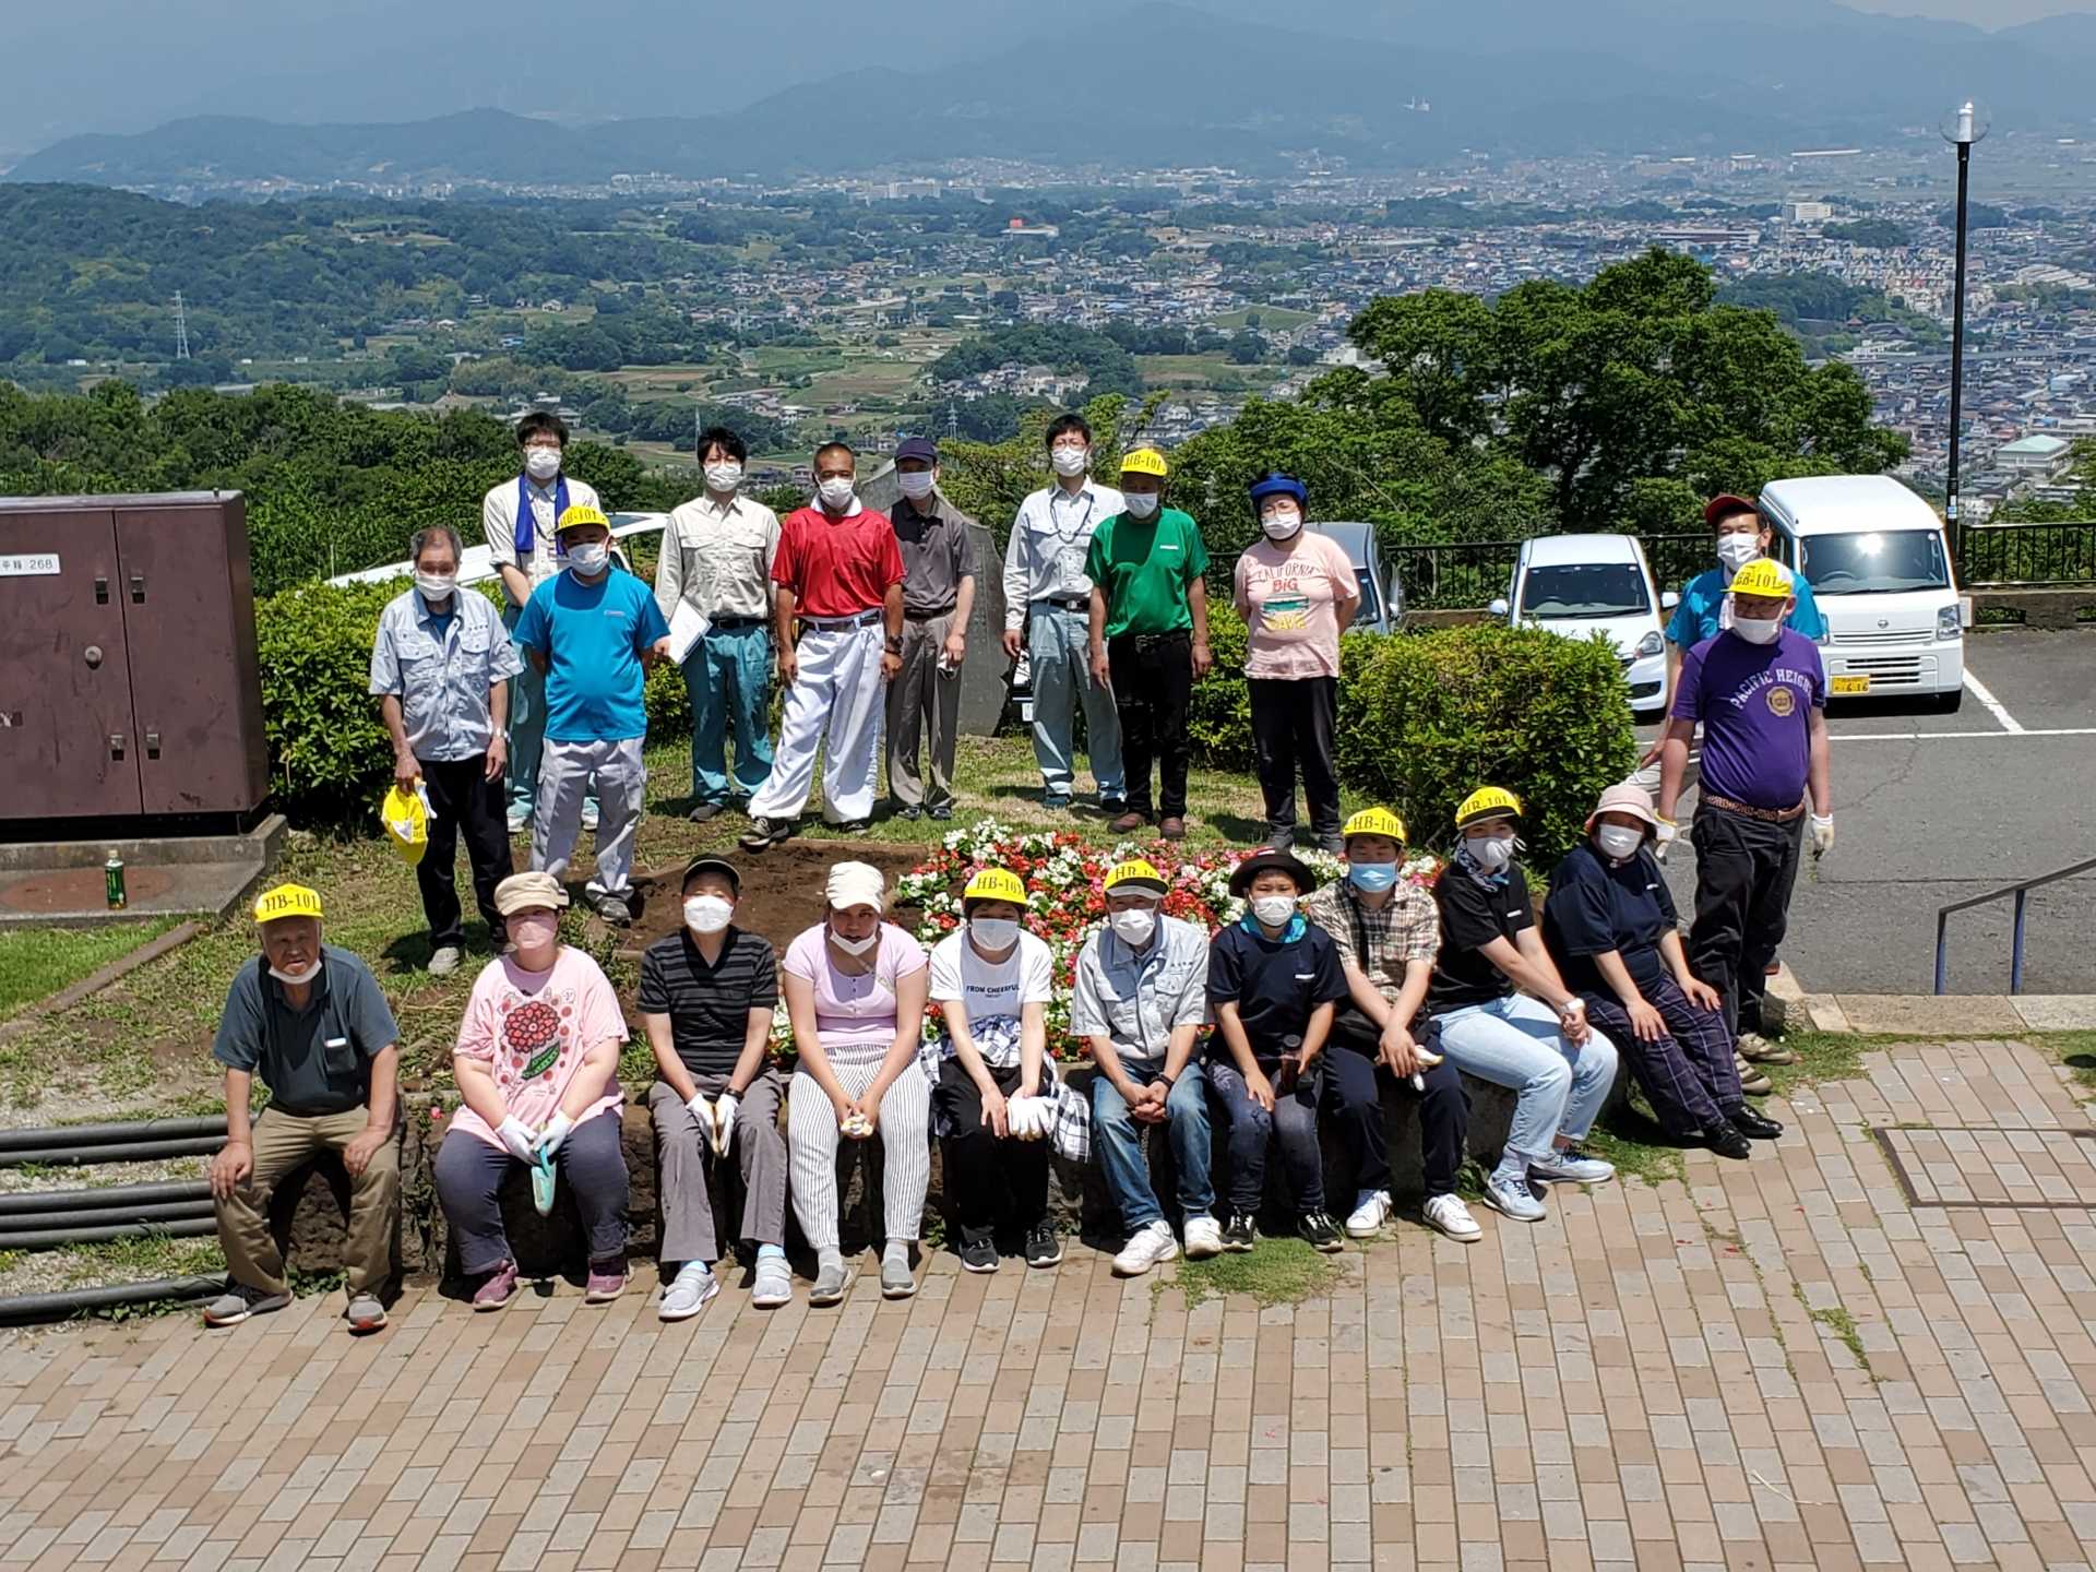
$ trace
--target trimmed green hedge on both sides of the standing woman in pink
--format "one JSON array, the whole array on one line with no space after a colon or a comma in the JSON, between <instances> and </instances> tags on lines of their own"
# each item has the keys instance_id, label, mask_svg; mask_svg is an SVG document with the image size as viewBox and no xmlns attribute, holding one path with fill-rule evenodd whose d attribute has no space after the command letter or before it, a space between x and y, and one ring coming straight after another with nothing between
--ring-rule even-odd
<instances>
[{"instance_id":1,"label":"trimmed green hedge on both sides of the standing woman in pink","mask_svg":"<svg viewBox=\"0 0 2096 1572\"><path fill-rule=\"evenodd\" d=\"M1209 650L1216 671L1188 711L1193 752L1249 773L1245 625L1230 606L1209 606ZM1637 765L1612 648L1492 623L1348 635L1337 746L1346 788L1394 807L1421 847L1453 847L1457 803L1480 784L1515 792L1534 866L1562 857L1601 790Z\"/></svg>"}]
</instances>

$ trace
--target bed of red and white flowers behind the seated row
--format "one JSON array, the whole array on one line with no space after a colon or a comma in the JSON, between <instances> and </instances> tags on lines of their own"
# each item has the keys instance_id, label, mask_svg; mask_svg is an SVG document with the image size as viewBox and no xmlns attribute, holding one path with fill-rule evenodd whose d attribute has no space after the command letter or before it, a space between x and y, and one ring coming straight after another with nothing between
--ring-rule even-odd
<instances>
[{"instance_id":1,"label":"bed of red and white flowers behind the seated row","mask_svg":"<svg viewBox=\"0 0 2096 1572\"><path fill-rule=\"evenodd\" d=\"M1214 933L1224 922L1243 916L1245 903L1230 895L1230 870L1249 851L1207 851L1188 855L1172 840L1121 840L1096 847L1077 834L1021 834L996 820L954 830L929 861L918 864L895 885L895 903L922 912L916 937L939 943L960 926L960 893L979 868L1008 868L1027 887L1027 929L1048 943L1054 956L1054 998L1048 1004L1048 1052L1056 1058L1086 1058L1086 1044L1069 1031L1069 998L1075 987L1077 952L1092 929L1107 920L1105 880L1115 864L1142 857L1170 882L1163 910L1167 916L1199 922ZM1295 853L1318 885L1339 876L1341 864L1327 851ZM1404 864L1402 876L1432 887L1440 859L1417 855ZM933 1006L929 1031L937 1033L939 1008Z\"/></svg>"}]
</instances>

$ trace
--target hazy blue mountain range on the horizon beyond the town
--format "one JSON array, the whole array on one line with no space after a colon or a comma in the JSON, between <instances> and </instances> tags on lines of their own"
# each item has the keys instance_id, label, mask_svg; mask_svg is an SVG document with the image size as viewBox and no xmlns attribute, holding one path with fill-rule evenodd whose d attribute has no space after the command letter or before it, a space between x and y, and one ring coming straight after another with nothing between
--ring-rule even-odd
<instances>
[{"instance_id":1,"label":"hazy blue mountain range on the horizon beyond the town","mask_svg":"<svg viewBox=\"0 0 2096 1572\"><path fill-rule=\"evenodd\" d=\"M159 191L237 180L581 184L962 155L1270 170L1310 147L1358 168L1406 168L1463 149L1884 145L1933 128L1972 94L2004 128L2069 132L2096 119L2086 86L2096 17L1985 34L1828 0L1759 0L1748 19L1681 0L1295 0L1289 25L1272 15L1268 0L1138 4L1086 25L1079 52L1063 36L964 65L857 69L719 115L587 126L499 109L335 126L189 117L136 136L65 138L8 178Z\"/></svg>"}]
</instances>

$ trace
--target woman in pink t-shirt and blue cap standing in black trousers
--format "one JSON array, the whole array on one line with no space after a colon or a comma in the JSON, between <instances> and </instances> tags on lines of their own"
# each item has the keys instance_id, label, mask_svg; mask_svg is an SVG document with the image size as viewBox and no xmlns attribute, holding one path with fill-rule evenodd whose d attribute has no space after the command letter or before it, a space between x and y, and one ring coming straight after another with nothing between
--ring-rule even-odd
<instances>
[{"instance_id":1,"label":"woman in pink t-shirt and blue cap standing in black trousers","mask_svg":"<svg viewBox=\"0 0 2096 1572\"><path fill-rule=\"evenodd\" d=\"M1295 845L1295 771L1310 828L1325 851L1339 838L1339 635L1360 610L1354 564L1339 543L1304 528L1304 482L1270 474L1251 484L1262 539L1237 560L1232 599L1249 633L1251 761L1266 796L1266 845Z\"/></svg>"}]
</instances>

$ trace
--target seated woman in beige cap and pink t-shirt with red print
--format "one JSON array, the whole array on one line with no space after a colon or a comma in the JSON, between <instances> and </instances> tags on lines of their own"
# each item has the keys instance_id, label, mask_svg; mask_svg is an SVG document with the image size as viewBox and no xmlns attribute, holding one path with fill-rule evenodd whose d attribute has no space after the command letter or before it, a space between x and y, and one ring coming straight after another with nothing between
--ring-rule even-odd
<instances>
[{"instance_id":1,"label":"seated woman in beige cap and pink t-shirt with red print","mask_svg":"<svg viewBox=\"0 0 2096 1572\"><path fill-rule=\"evenodd\" d=\"M516 1297L501 1186L522 1163L555 1165L589 1235L589 1304L627 1287L627 1159L618 1144L618 996L589 956L560 941L566 891L551 874L511 874L495 910L516 949L486 964L465 1004L451 1067L465 1098L436 1153L436 1201L459 1266L482 1279L474 1310Z\"/></svg>"}]
</instances>

